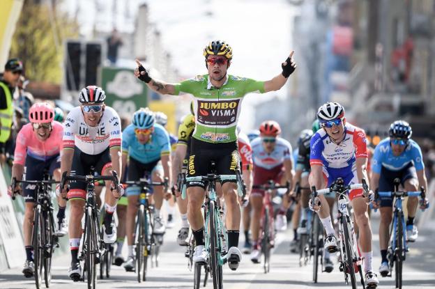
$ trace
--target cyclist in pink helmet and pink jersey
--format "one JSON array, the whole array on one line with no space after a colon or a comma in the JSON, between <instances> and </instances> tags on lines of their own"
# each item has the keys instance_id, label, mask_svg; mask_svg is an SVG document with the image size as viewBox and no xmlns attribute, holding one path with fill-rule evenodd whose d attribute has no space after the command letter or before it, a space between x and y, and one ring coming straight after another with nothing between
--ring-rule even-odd
<instances>
[{"instance_id":1,"label":"cyclist in pink helmet and pink jersey","mask_svg":"<svg viewBox=\"0 0 435 289\"><path fill-rule=\"evenodd\" d=\"M61 123L54 121L54 109L46 102L33 104L29 109L30 123L24 125L17 135L15 146L14 163L12 166L12 178L22 180L24 167L26 168L26 180L43 180L45 170L53 176L54 180L61 180L61 146L63 127ZM23 219L24 249L26 250L26 262L23 274L27 278L33 276L35 265L33 263L33 246L31 242L33 216L35 210L35 186L26 185L9 187L23 193L25 211ZM68 233L65 222L66 201L58 198L59 211L57 212L58 228L54 235L63 237Z\"/></svg>"}]
</instances>

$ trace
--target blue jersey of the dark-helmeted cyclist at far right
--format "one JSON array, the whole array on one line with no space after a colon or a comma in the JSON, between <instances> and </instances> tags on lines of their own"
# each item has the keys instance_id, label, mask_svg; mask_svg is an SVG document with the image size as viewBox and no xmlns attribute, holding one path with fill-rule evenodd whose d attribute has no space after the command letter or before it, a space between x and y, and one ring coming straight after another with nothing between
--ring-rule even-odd
<instances>
[{"instance_id":1,"label":"blue jersey of the dark-helmeted cyclist at far right","mask_svg":"<svg viewBox=\"0 0 435 289\"><path fill-rule=\"evenodd\" d=\"M388 137L383 139L374 149L372 171L374 173L381 173L382 166L390 171L399 171L410 163L415 166L416 171L425 169L420 146L410 139L404 152L395 157L392 154L390 138Z\"/></svg>"}]
</instances>

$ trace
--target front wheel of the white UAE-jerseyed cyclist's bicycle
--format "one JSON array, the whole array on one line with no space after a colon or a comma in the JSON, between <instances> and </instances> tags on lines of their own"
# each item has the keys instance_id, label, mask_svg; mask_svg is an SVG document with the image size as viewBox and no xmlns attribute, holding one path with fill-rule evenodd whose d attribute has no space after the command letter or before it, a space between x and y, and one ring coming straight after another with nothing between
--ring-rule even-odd
<instances>
[{"instance_id":1,"label":"front wheel of the white UAE-jerseyed cyclist's bicycle","mask_svg":"<svg viewBox=\"0 0 435 289\"><path fill-rule=\"evenodd\" d=\"M86 234L86 276L88 288L96 288L96 226L95 226L95 218L93 218L92 208L87 208L87 217L88 222L86 224L86 230L88 231Z\"/></svg>"}]
</instances>

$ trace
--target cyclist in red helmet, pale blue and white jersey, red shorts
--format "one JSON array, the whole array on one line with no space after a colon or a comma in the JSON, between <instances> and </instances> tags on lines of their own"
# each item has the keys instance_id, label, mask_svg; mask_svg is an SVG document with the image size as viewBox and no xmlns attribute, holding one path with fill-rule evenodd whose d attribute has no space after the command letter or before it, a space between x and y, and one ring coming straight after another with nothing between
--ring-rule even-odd
<instances>
[{"instance_id":1,"label":"cyclist in red helmet, pale blue and white jersey, red shorts","mask_svg":"<svg viewBox=\"0 0 435 289\"><path fill-rule=\"evenodd\" d=\"M268 180L284 185L293 180L293 159L291 144L282 139L280 125L267 120L260 125L260 137L252 141L252 160L254 162L254 185L264 185ZM291 186L290 186L291 187ZM250 202L252 205L252 253L253 263L259 263L261 256L259 230L261 210L263 208L264 190L252 189ZM284 196L282 206L277 214L275 228L284 231L287 228L286 212L288 199Z\"/></svg>"}]
</instances>

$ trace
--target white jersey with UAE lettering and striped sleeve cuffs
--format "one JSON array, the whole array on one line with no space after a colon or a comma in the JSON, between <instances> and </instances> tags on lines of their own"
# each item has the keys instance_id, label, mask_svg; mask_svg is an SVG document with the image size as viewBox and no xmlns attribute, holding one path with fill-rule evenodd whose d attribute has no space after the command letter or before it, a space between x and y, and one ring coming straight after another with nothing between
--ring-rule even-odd
<instances>
[{"instance_id":1,"label":"white jersey with UAE lettering and striped sleeve cuffs","mask_svg":"<svg viewBox=\"0 0 435 289\"><path fill-rule=\"evenodd\" d=\"M89 127L84 121L82 109L75 107L63 123L63 148L74 148L88 155L98 155L108 147L121 147L121 120L112 107L105 107L96 127Z\"/></svg>"}]
</instances>

